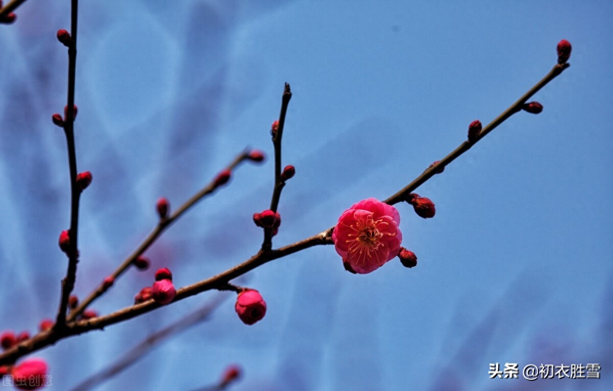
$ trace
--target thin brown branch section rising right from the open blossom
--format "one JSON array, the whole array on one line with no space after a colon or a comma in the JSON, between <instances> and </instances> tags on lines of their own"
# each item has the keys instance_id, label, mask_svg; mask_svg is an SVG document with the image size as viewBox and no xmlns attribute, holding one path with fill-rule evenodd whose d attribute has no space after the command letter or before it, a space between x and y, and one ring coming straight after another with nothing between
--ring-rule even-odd
<instances>
[{"instance_id":1,"label":"thin brown branch section rising right from the open blossom","mask_svg":"<svg viewBox=\"0 0 613 391\"><path fill-rule=\"evenodd\" d=\"M437 164L433 164L431 167L428 167L428 169L425 170L424 173L422 173L422 175L419 175L419 177L415 178L411 183L406 185L405 188L398 191L396 194L394 194L394 196L391 196L388 199L384 200L384 202L389 203L389 205L394 205L395 203L402 202L405 199L405 197L408 196L409 193L413 192L415 189L419 188L419 186L424 184L425 181L432 178L438 170L443 169L447 164L451 163L456 158L458 158L460 155L470 150L471 146L473 146L479 140L485 137L485 135L493 131L498 125L500 125L505 120L507 120L511 115L514 115L515 113L519 112L522 109L522 105L524 105L525 102L527 102L531 96L536 94L539 91L539 89L546 86L547 83L554 80L554 78L557 77L557 75L561 74L563 70L565 70L569 66L570 64L568 63L555 64L553 69L550 70L549 74L547 74L543 79L541 79L540 82L536 83L536 85L530 88L530 90L528 90L528 92L525 93L524 96L520 97L517 100L517 102L512 104L509 108L504 110L504 112L501 113L501 115L497 116L495 120L487 124L487 126L485 126L483 129L481 129L479 136L476 138L476 140L474 140L474 142L472 143L468 141L463 142L462 144L460 144L460 146L455 148L455 150L452 151L452 153L445 156Z\"/></svg>"}]
</instances>

